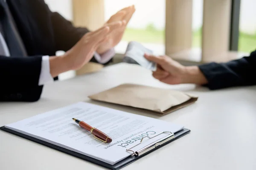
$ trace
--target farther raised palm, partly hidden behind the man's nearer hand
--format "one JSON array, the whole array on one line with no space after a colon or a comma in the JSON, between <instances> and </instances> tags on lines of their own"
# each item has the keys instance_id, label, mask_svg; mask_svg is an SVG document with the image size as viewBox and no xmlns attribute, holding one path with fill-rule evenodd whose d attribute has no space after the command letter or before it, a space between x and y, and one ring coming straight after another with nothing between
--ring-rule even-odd
<instances>
[{"instance_id":1,"label":"farther raised palm, partly hidden behind the man's nearer hand","mask_svg":"<svg viewBox=\"0 0 256 170\"><path fill-rule=\"evenodd\" d=\"M125 28L129 21L131 20L132 15L135 12L135 7L128 6L121 9L116 14L112 15L111 18L105 23L105 26L108 26L111 23L120 22L121 26L111 30L111 34L108 35L107 39L99 45L99 48L96 50L97 53L103 54L109 49L116 46L121 40L125 32Z\"/></svg>"}]
</instances>

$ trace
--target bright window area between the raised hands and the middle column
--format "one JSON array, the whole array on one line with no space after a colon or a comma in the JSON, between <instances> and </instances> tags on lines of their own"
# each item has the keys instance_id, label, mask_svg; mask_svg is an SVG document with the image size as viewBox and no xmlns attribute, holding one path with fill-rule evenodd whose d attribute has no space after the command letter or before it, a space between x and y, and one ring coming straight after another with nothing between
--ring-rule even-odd
<instances>
[{"instance_id":1,"label":"bright window area between the raised hands and the middle column","mask_svg":"<svg viewBox=\"0 0 256 170\"><path fill-rule=\"evenodd\" d=\"M122 41L115 48L116 52L123 54L129 41L137 41L158 54L164 54L165 0L105 0L105 20L120 9L133 4L136 11Z\"/></svg>"}]
</instances>

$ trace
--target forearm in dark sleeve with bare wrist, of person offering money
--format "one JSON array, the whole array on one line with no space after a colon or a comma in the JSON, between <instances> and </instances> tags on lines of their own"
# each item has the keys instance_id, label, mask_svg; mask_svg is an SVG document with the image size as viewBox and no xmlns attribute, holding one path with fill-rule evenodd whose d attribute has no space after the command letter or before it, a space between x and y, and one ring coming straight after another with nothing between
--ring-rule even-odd
<instances>
[{"instance_id":1,"label":"forearm in dark sleeve with bare wrist, of person offering money","mask_svg":"<svg viewBox=\"0 0 256 170\"><path fill-rule=\"evenodd\" d=\"M233 86L256 85L252 76L256 72L256 51L249 57L243 57L226 63L207 63L185 67L183 83L207 85L209 89L221 89Z\"/></svg>"}]
</instances>

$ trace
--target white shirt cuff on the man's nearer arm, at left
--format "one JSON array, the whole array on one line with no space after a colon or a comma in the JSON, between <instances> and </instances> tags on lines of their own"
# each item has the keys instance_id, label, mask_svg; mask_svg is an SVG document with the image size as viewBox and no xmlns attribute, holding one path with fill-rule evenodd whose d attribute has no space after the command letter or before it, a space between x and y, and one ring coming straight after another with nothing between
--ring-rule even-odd
<instances>
[{"instance_id":1,"label":"white shirt cuff on the man's nearer arm, at left","mask_svg":"<svg viewBox=\"0 0 256 170\"><path fill-rule=\"evenodd\" d=\"M43 56L42 64L41 64L41 73L40 73L38 85L44 85L48 82L53 82L53 78L50 73L49 56Z\"/></svg>"}]
</instances>

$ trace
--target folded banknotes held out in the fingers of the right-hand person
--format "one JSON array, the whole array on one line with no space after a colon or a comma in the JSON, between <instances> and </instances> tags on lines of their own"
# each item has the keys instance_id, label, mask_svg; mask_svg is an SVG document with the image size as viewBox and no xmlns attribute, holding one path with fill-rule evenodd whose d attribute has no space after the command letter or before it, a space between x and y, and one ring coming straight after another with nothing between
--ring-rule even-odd
<instances>
[{"instance_id":1,"label":"folded banknotes held out in the fingers of the right-hand person","mask_svg":"<svg viewBox=\"0 0 256 170\"><path fill-rule=\"evenodd\" d=\"M124 62L128 62L131 64L139 64L151 71L156 71L157 64L155 62L151 62L145 59L145 53L153 54L153 51L149 50L148 48L145 48L139 42L131 41L128 43L125 52Z\"/></svg>"}]
</instances>

